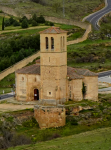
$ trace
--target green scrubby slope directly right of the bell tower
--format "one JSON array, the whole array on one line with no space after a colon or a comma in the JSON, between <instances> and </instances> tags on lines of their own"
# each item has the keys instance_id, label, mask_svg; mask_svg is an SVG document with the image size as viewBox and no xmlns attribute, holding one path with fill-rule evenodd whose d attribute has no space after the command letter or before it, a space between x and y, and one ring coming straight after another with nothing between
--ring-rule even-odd
<instances>
[{"instance_id":1,"label":"green scrubby slope directly right of the bell tower","mask_svg":"<svg viewBox=\"0 0 111 150\"><path fill-rule=\"evenodd\" d=\"M68 46L68 65L88 68L92 71L111 69L110 39L86 40L84 42Z\"/></svg>"}]
</instances>

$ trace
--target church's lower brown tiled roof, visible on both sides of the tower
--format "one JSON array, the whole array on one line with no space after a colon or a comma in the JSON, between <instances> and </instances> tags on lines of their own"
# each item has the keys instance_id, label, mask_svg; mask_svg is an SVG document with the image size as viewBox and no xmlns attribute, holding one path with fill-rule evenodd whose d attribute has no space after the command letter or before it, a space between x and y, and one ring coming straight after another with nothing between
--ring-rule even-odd
<instances>
[{"instance_id":1,"label":"church's lower brown tiled roof, visible on both sides of the tower","mask_svg":"<svg viewBox=\"0 0 111 150\"><path fill-rule=\"evenodd\" d=\"M19 74L38 74L40 75L40 64L34 64L31 66L24 67L16 71ZM91 72L88 69L77 69L67 67L67 76L70 79L83 79L84 76L98 76L97 73Z\"/></svg>"}]
</instances>

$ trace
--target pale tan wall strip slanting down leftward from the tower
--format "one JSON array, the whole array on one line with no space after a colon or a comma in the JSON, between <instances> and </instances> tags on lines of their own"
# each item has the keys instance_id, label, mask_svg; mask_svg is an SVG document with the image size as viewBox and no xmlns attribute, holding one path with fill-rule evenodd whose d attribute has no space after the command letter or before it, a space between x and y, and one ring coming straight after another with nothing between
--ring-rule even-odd
<instances>
[{"instance_id":1,"label":"pale tan wall strip slanting down leftward from the tower","mask_svg":"<svg viewBox=\"0 0 111 150\"><path fill-rule=\"evenodd\" d=\"M2 80L4 77L9 75L10 73L15 72L16 70L26 66L28 63L32 62L34 59L40 56L40 52L37 52L36 54L29 56L28 58L23 59L22 61L16 63L15 65L5 69L0 73L0 80Z\"/></svg>"}]
</instances>

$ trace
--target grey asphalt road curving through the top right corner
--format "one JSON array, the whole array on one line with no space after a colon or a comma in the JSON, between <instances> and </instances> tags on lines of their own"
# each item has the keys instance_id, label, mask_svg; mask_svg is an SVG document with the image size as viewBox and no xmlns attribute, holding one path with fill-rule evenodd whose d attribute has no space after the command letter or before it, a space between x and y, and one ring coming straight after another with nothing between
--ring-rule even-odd
<instances>
[{"instance_id":1,"label":"grey asphalt road curving through the top right corner","mask_svg":"<svg viewBox=\"0 0 111 150\"><path fill-rule=\"evenodd\" d=\"M99 26L97 25L99 19L111 11L111 0L107 0L108 6L101 11L98 11L92 15L90 15L86 20L89 21L95 30L99 30Z\"/></svg>"}]
</instances>

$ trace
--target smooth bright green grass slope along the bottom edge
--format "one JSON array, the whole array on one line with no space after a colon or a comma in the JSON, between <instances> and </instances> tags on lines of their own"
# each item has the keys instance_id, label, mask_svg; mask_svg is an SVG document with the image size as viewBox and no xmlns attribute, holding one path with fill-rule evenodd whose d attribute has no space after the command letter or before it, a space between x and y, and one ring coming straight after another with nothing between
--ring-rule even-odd
<instances>
[{"instance_id":1,"label":"smooth bright green grass slope along the bottom edge","mask_svg":"<svg viewBox=\"0 0 111 150\"><path fill-rule=\"evenodd\" d=\"M111 127L8 150L110 150Z\"/></svg>"}]
</instances>

